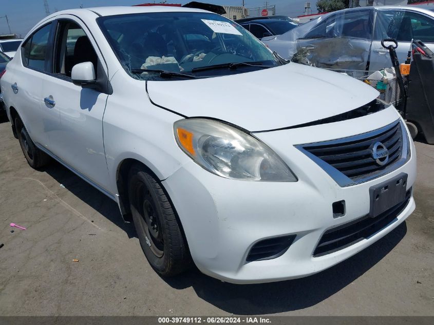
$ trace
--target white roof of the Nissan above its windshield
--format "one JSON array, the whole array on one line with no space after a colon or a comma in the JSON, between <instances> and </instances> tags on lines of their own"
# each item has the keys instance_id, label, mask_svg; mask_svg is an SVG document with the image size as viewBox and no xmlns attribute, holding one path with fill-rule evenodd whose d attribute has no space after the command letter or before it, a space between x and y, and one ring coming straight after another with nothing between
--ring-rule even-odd
<instances>
[{"instance_id":1,"label":"white roof of the Nissan above its windshield","mask_svg":"<svg viewBox=\"0 0 434 325\"><path fill-rule=\"evenodd\" d=\"M147 13L147 12L211 12L202 9L172 7L172 6L113 6L113 7L94 7L84 9L68 9L58 11L51 16L61 14L77 14L80 15L84 11L91 11L99 16L114 16L122 14Z\"/></svg>"}]
</instances>

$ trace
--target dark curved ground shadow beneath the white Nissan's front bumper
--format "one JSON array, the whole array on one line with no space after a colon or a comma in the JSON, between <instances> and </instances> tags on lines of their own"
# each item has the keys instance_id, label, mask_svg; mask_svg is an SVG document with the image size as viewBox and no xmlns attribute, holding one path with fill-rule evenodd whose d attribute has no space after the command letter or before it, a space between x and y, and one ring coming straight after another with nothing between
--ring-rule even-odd
<instances>
[{"instance_id":1,"label":"dark curved ground shadow beneath the white Nissan's front bumper","mask_svg":"<svg viewBox=\"0 0 434 325\"><path fill-rule=\"evenodd\" d=\"M288 281L237 285L221 282L197 269L165 278L175 289L192 287L198 297L235 315L260 315L311 307L351 284L395 247L407 232L402 223L362 252L315 275Z\"/></svg>"}]
</instances>

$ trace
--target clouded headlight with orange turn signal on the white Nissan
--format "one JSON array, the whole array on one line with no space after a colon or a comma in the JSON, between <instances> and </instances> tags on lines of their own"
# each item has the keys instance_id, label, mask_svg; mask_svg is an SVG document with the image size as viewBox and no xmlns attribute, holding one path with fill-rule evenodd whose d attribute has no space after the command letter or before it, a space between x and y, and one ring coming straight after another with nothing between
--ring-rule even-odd
<instances>
[{"instance_id":1,"label":"clouded headlight with orange turn signal on the white Nissan","mask_svg":"<svg viewBox=\"0 0 434 325\"><path fill-rule=\"evenodd\" d=\"M175 122L174 131L179 147L213 174L245 181L297 181L267 145L227 124L184 119Z\"/></svg>"}]
</instances>

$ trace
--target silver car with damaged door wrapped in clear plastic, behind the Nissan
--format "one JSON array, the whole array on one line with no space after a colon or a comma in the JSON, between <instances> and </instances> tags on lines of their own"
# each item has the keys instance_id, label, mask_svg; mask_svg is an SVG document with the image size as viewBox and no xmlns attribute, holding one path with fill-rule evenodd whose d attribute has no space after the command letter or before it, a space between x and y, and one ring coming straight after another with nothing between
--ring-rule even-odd
<instances>
[{"instance_id":1,"label":"silver car with damaged door wrapped in clear plastic, behind the Nissan","mask_svg":"<svg viewBox=\"0 0 434 325\"><path fill-rule=\"evenodd\" d=\"M411 39L434 50L434 12L414 6L345 9L261 41L286 59L308 49L309 60L318 67L379 70L391 66L381 45L386 38L398 41L400 62L407 57Z\"/></svg>"}]
</instances>

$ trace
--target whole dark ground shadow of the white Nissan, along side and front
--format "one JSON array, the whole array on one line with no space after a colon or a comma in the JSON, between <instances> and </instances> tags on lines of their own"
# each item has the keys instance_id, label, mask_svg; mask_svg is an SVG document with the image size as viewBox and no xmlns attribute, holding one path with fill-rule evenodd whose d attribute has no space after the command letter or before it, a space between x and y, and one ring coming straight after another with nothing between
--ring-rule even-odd
<instances>
[{"instance_id":1,"label":"whole dark ground shadow of the white Nissan, along side and front","mask_svg":"<svg viewBox=\"0 0 434 325\"><path fill-rule=\"evenodd\" d=\"M122 221L117 204L59 163L44 169L72 194L118 225L129 238L136 237L132 223ZM197 296L228 313L238 315L273 314L311 307L351 284L383 259L407 232L402 223L364 251L321 273L265 284L224 283L200 273L196 268L173 278L163 278L172 288L192 287Z\"/></svg>"}]
</instances>

